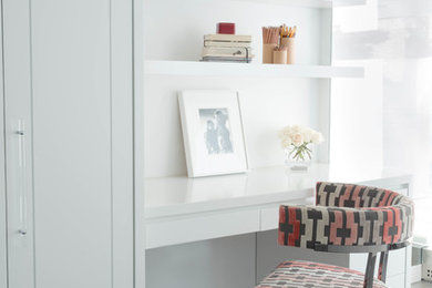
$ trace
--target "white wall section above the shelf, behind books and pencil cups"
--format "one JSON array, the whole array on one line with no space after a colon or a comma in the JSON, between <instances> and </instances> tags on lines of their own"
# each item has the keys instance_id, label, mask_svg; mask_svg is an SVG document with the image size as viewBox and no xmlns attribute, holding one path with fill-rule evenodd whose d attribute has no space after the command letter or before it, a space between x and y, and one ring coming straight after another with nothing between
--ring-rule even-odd
<instances>
[{"instance_id":1,"label":"white wall section above the shelf, behind books and pencil cups","mask_svg":"<svg viewBox=\"0 0 432 288\"><path fill-rule=\"evenodd\" d=\"M235 22L237 34L253 35L256 62L261 62L261 27L297 25L297 58L302 64L320 61L320 9L246 1L144 0L147 60L199 60L204 34L217 22ZM330 22L328 22L328 25Z\"/></svg>"}]
</instances>

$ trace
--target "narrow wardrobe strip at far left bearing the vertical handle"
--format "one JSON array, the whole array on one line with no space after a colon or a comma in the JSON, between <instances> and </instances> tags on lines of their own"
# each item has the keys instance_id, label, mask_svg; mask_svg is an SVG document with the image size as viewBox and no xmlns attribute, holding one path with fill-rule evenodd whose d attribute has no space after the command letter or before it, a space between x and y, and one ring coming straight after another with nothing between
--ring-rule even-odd
<instances>
[{"instance_id":1,"label":"narrow wardrobe strip at far left bearing the vertical handle","mask_svg":"<svg viewBox=\"0 0 432 288\"><path fill-rule=\"evenodd\" d=\"M29 14L28 0L2 0L9 288L34 287Z\"/></svg>"}]
</instances>

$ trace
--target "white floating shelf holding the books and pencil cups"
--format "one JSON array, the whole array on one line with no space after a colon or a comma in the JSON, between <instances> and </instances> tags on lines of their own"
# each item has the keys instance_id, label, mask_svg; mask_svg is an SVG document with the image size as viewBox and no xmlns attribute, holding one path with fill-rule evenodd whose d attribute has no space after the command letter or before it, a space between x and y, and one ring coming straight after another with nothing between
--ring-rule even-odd
<instances>
[{"instance_id":1,"label":"white floating shelf holding the books and pencil cups","mask_svg":"<svg viewBox=\"0 0 432 288\"><path fill-rule=\"evenodd\" d=\"M363 78L363 68L327 65L280 65L194 61L145 61L145 75L183 76L282 76Z\"/></svg>"}]
</instances>

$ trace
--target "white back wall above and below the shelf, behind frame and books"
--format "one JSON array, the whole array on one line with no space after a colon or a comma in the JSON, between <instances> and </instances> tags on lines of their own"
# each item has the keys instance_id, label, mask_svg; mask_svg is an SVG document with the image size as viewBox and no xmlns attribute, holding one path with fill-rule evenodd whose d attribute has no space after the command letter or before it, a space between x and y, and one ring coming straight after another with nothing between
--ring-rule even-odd
<instances>
[{"instance_id":1,"label":"white back wall above and below the shelf, behind frame and books","mask_svg":"<svg viewBox=\"0 0 432 288\"><path fill-rule=\"evenodd\" d=\"M147 0L145 8L147 60L198 61L203 35L215 33L217 22L233 21L237 34L253 35L256 63L261 62L261 27L281 23L299 28L299 64L329 62L328 10L198 0ZM328 138L328 80L147 75L145 83L147 177L186 174L176 97L179 90L240 91L253 167L282 165L284 152L276 134L285 125L309 125L321 130ZM320 148L318 160L327 160L327 145Z\"/></svg>"}]
</instances>

